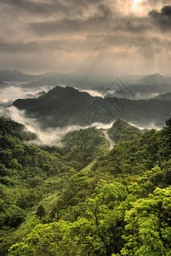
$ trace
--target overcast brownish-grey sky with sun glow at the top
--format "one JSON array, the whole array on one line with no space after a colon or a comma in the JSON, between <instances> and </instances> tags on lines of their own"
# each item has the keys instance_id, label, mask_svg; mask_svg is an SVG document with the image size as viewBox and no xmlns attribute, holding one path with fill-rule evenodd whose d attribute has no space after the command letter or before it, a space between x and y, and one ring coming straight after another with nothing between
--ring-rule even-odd
<instances>
[{"instance_id":1,"label":"overcast brownish-grey sky with sun glow at the top","mask_svg":"<svg viewBox=\"0 0 171 256\"><path fill-rule=\"evenodd\" d=\"M0 68L171 73L171 0L0 0Z\"/></svg>"}]
</instances>

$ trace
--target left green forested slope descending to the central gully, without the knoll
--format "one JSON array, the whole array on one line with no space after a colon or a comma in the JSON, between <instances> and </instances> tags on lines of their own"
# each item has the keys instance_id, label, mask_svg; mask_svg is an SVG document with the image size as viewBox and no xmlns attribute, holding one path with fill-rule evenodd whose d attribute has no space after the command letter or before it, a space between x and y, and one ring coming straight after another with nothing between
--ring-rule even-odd
<instances>
[{"instance_id":1,"label":"left green forested slope descending to the central gully, without the knoll","mask_svg":"<svg viewBox=\"0 0 171 256\"><path fill-rule=\"evenodd\" d=\"M5 255L7 247L14 242L14 236L7 237L9 230L16 230L28 212L56 186L60 189L66 177L75 171L59 156L22 143L20 139L32 138L23 131L23 125L2 118L0 129L0 230L3 232L0 254ZM48 179L54 176L58 178L49 185ZM37 215L43 218L46 213L39 207Z\"/></svg>"}]
</instances>

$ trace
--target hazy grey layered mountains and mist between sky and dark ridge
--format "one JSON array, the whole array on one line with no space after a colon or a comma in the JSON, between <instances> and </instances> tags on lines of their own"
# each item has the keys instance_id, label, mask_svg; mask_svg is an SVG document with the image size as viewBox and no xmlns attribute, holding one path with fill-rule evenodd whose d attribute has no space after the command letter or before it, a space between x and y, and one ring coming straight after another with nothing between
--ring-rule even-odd
<instances>
[{"instance_id":1,"label":"hazy grey layered mountains and mist between sky and dark ridge","mask_svg":"<svg viewBox=\"0 0 171 256\"><path fill-rule=\"evenodd\" d=\"M118 86L120 80L121 86ZM14 84L13 84L14 83ZM43 73L29 75L8 69L0 70L0 88L9 85L26 89L44 90L43 86L71 86L98 90L102 96L131 100L150 99L171 92L171 77L159 73L151 75L126 75L119 79L109 76L81 76L76 73Z\"/></svg>"}]
</instances>

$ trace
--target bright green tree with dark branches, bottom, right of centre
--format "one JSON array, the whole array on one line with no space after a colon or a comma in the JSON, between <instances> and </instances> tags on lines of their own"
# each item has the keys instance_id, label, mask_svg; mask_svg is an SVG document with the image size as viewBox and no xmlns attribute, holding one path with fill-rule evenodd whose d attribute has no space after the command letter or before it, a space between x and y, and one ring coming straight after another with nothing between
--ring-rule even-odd
<instances>
[{"instance_id":1,"label":"bright green tree with dark branches, bottom, right of centre","mask_svg":"<svg viewBox=\"0 0 171 256\"><path fill-rule=\"evenodd\" d=\"M95 197L87 201L87 218L71 224L72 239L87 255L111 256L120 251L123 209L118 205L127 195L122 183L101 181Z\"/></svg>"}]
</instances>

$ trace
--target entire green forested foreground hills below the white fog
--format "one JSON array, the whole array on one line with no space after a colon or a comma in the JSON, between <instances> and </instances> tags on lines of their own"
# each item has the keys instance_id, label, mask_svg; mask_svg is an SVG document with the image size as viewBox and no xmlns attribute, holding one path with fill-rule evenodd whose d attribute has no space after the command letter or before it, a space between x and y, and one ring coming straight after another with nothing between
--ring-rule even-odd
<instances>
[{"instance_id":1,"label":"entire green forested foreground hills below the white fog","mask_svg":"<svg viewBox=\"0 0 171 256\"><path fill-rule=\"evenodd\" d=\"M90 128L49 153L22 143L1 119L1 255L170 254L171 119L126 141L130 127L118 125L123 140L110 152Z\"/></svg>"}]
</instances>

